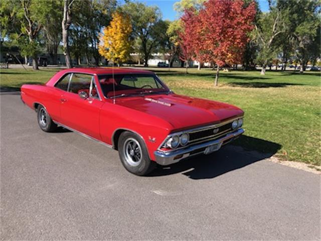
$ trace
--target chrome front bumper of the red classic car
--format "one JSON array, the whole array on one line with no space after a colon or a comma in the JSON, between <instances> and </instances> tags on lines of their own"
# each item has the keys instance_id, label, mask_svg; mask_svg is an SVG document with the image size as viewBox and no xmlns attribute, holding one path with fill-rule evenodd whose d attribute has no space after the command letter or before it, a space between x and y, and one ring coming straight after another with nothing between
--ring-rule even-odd
<instances>
[{"instance_id":1,"label":"chrome front bumper of the red classic car","mask_svg":"<svg viewBox=\"0 0 321 241\"><path fill-rule=\"evenodd\" d=\"M239 129L239 130L229 133L226 136L221 137L219 139L196 144L194 146L190 146L190 147L187 147L184 149L173 150L173 151L168 151L168 152L155 151L154 152L155 159L156 159L155 161L159 165L166 166L166 165L170 165L170 164L179 162L180 160L187 158L187 157L191 157L191 156L198 155L198 154L204 154L204 150L202 150L202 149L212 146L212 145L215 145L215 144L219 144L219 148L217 149L217 150L219 150L222 145L225 145L225 144L233 141L236 137L240 136L243 133L244 133L244 130ZM223 142L225 142L225 143L223 144ZM201 150L199 152L197 152L198 149L201 149ZM192 152L193 152L193 154L191 154Z\"/></svg>"}]
</instances>

